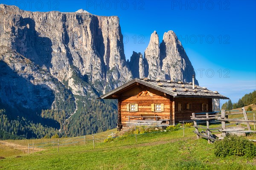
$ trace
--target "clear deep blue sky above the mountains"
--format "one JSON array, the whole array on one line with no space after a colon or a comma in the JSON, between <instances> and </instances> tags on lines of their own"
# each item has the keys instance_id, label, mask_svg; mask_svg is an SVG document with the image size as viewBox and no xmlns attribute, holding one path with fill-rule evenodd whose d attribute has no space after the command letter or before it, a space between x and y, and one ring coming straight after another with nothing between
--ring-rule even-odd
<instances>
[{"instance_id":1,"label":"clear deep blue sky above the mountains","mask_svg":"<svg viewBox=\"0 0 256 170\"><path fill-rule=\"evenodd\" d=\"M0 0L28 11L73 12L80 8L118 16L125 56L144 53L150 35L175 31L201 86L237 102L256 90L255 0ZM222 103L225 100L222 101Z\"/></svg>"}]
</instances>

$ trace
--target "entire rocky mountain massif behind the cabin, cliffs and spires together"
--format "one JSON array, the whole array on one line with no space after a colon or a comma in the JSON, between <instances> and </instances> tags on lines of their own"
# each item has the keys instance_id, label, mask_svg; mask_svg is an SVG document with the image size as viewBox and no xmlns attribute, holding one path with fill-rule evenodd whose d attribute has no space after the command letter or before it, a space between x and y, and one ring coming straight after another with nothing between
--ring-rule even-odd
<instances>
[{"instance_id":1,"label":"entire rocky mountain massif behind the cabin, cliffs and spires together","mask_svg":"<svg viewBox=\"0 0 256 170\"><path fill-rule=\"evenodd\" d=\"M118 17L84 10L30 12L3 4L0 66L0 106L10 115L19 108L15 114L24 119L30 114L54 119L66 135L115 127L115 102L96 98L135 77L191 82L195 74L173 31L161 43L154 31L144 57L134 52L126 61ZM23 114L26 109L30 113Z\"/></svg>"}]
</instances>

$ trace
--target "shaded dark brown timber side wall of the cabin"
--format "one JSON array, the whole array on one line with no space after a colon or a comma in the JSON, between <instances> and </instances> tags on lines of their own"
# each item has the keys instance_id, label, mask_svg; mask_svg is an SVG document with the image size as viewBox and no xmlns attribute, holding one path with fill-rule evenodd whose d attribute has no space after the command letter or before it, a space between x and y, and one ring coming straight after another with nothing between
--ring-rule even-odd
<instances>
[{"instance_id":1,"label":"shaded dark brown timber side wall of the cabin","mask_svg":"<svg viewBox=\"0 0 256 170\"><path fill-rule=\"evenodd\" d=\"M208 98L174 98L175 99L175 123L190 120L192 113L211 112L212 99ZM178 103L182 103L182 111L178 111ZM191 103L191 109L186 109L186 104ZM208 110L202 111L202 103L208 104Z\"/></svg>"}]
</instances>

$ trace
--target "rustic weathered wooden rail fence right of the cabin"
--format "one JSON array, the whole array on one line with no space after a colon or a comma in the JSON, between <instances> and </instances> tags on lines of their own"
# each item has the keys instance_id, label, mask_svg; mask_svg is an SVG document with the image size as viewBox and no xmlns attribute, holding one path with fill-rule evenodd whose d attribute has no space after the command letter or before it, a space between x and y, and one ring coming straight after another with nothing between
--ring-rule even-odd
<instances>
[{"instance_id":1,"label":"rustic weathered wooden rail fence right of the cabin","mask_svg":"<svg viewBox=\"0 0 256 170\"><path fill-rule=\"evenodd\" d=\"M208 140L208 143L212 143L218 139L223 139L225 136L227 136L227 133L256 133L255 130L255 114L253 116L253 120L248 120L247 113L245 112L245 109L242 108L242 113L230 113L226 114L225 110L221 110L221 114L212 114L210 113L192 113L191 119L194 121L194 127L197 138L200 139L200 137L205 138ZM236 114L243 114L244 119L227 119L226 116L228 115L236 115ZM210 128L210 122L221 122L221 127L215 127ZM206 122L205 126L200 126L199 122ZM231 124L227 124L227 122L235 122ZM245 130L244 127L234 127L229 125L238 125L238 124L246 124L247 130ZM251 130L250 123L254 124L254 130ZM229 127L227 127L229 126ZM204 129L205 131L199 132L199 128ZM213 132L221 132L221 136L212 135ZM218 137L218 139L217 139ZM256 140L252 140L253 142L256 142Z\"/></svg>"}]
</instances>

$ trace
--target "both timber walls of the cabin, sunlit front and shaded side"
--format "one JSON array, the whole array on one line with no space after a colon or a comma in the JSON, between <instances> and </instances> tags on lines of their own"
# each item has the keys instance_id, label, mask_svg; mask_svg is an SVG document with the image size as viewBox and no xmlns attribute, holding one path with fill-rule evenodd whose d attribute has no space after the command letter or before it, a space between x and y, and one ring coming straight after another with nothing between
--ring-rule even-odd
<instances>
[{"instance_id":1,"label":"both timber walls of the cabin, sunlit front and shaded side","mask_svg":"<svg viewBox=\"0 0 256 170\"><path fill-rule=\"evenodd\" d=\"M166 95L163 92L157 91L153 88L146 87L144 85L134 85L130 89L120 92L119 96L119 123L126 127L126 121L128 116L140 116L143 114L152 116L156 114L161 116L160 119L169 119L170 125L178 123L178 121L190 120L192 113L211 112L212 111L212 99L208 98L186 98ZM164 111L154 112L151 111L151 104L164 104ZM178 103L182 103L182 111L178 111ZM191 109L186 108L186 104L191 103ZM207 104L208 110L202 111L202 103ZM127 104L137 104L138 111L127 111ZM133 118L139 119L139 118ZM132 120L132 118L130 118Z\"/></svg>"}]
</instances>

